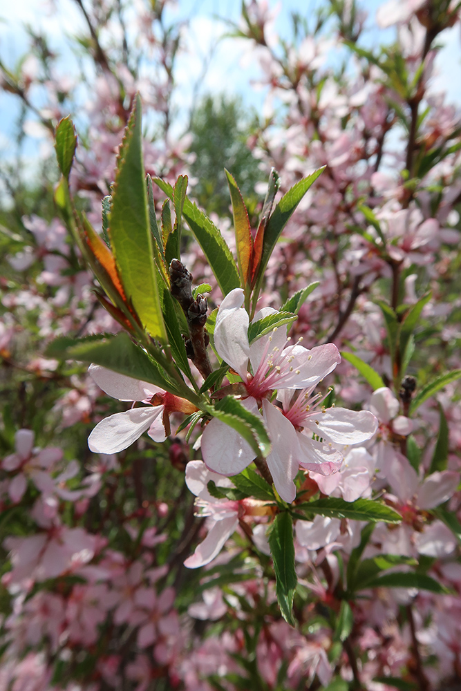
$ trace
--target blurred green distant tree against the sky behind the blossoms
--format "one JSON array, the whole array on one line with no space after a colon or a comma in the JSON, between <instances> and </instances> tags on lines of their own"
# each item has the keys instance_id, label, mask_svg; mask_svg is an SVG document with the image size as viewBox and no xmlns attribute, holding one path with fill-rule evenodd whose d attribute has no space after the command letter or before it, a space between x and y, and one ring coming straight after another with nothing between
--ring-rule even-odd
<instances>
[{"instance_id":1,"label":"blurred green distant tree against the sky behind the blossoms","mask_svg":"<svg viewBox=\"0 0 461 691\"><path fill-rule=\"evenodd\" d=\"M247 146L256 127L256 114L245 111L238 97L207 95L194 111L191 118L194 136L191 151L196 154L191 174L197 178L194 196L208 213L229 214L223 161L236 178L249 210L256 205L254 186L266 177Z\"/></svg>"}]
</instances>

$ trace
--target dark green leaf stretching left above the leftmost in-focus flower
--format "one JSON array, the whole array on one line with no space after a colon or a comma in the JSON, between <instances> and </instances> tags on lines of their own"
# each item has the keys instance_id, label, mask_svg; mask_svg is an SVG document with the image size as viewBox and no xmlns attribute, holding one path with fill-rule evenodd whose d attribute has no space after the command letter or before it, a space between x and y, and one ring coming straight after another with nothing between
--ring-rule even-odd
<instances>
[{"instance_id":1,"label":"dark green leaf stretching left above the leftmost in-focus flower","mask_svg":"<svg viewBox=\"0 0 461 691\"><path fill-rule=\"evenodd\" d=\"M150 384L184 396L184 390L178 387L178 382L171 379L167 372L151 360L149 355L135 345L124 332L104 340L59 337L48 345L46 353L48 357L94 362L126 377L149 381ZM190 393L193 394L192 391Z\"/></svg>"}]
</instances>

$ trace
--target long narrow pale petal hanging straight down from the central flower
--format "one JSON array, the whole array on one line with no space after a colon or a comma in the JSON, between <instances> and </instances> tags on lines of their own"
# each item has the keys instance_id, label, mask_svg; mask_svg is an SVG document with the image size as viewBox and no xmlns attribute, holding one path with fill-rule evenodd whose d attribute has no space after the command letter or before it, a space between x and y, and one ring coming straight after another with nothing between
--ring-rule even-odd
<instances>
[{"instance_id":1,"label":"long narrow pale petal hanging straight down from the central flower","mask_svg":"<svg viewBox=\"0 0 461 691\"><path fill-rule=\"evenodd\" d=\"M267 466L276 491L284 502L291 504L296 497L296 486L293 480L299 467L299 444L296 430L290 420L282 415L279 408L267 400L263 401L263 416L272 442L272 451L266 458Z\"/></svg>"}]
</instances>

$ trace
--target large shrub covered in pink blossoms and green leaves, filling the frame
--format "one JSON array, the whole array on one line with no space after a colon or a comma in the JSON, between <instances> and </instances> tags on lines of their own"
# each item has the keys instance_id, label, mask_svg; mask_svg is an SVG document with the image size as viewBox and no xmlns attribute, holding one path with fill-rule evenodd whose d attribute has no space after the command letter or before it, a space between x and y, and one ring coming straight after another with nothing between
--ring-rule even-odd
<instances>
[{"instance_id":1,"label":"large shrub covered in pink blossoms and green leaves, filling the frame","mask_svg":"<svg viewBox=\"0 0 461 691\"><path fill-rule=\"evenodd\" d=\"M460 681L460 142L429 79L459 8L389 3L377 53L335 3L339 73L325 18L282 54L243 9L287 104L255 223L231 173L233 234L169 155L146 177L135 88L102 177L50 121L61 220L24 221L3 281L0 688Z\"/></svg>"}]
</instances>

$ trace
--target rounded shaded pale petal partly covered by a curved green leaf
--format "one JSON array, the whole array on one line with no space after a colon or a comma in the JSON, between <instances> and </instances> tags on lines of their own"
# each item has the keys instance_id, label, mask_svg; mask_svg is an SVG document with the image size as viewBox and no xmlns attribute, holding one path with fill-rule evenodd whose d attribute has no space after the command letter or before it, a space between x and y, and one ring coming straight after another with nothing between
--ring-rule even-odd
<instances>
[{"instance_id":1,"label":"rounded shaded pale petal partly covered by a curved green leaf","mask_svg":"<svg viewBox=\"0 0 461 691\"><path fill-rule=\"evenodd\" d=\"M250 444L216 417L203 430L201 446L207 468L220 475L237 475L254 459Z\"/></svg>"}]
</instances>

